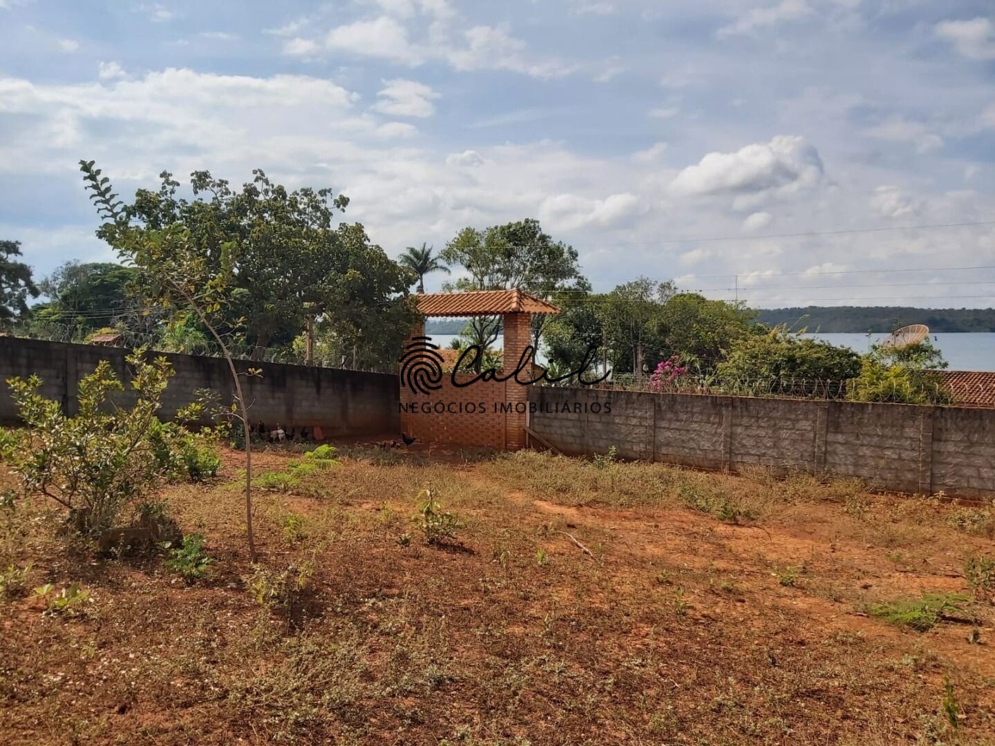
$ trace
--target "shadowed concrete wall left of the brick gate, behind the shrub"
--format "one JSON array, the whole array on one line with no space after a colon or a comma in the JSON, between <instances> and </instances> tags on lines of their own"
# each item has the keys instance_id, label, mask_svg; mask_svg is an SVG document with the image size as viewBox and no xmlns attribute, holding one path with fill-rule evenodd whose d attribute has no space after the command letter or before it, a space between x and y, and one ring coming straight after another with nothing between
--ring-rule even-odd
<instances>
[{"instance_id":1,"label":"shadowed concrete wall left of the brick gate, behind the shrub","mask_svg":"<svg viewBox=\"0 0 995 746\"><path fill-rule=\"evenodd\" d=\"M75 413L79 379L92 373L100 360L107 360L126 382L127 354L128 350L119 347L0 337L0 381L37 374L42 379L42 395ZM189 404L197 389L210 389L231 403L232 380L223 358L152 354L163 354L175 370L162 398L163 418ZM236 360L235 365L240 372L263 371L261 377L242 377L253 425L320 427L326 437L386 436L400 430L397 376L248 360ZM125 383L125 391L115 395L114 401L126 405L132 400ZM17 422L14 402L6 386L0 386L0 424Z\"/></svg>"}]
</instances>

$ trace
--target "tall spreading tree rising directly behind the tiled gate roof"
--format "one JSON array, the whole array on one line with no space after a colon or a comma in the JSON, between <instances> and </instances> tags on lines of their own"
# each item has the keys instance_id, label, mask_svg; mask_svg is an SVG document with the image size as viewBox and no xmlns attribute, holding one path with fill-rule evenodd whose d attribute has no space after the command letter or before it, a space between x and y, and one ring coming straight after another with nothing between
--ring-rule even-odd
<instances>
[{"instance_id":1,"label":"tall spreading tree rising directly behind the tiled gate roof","mask_svg":"<svg viewBox=\"0 0 995 746\"><path fill-rule=\"evenodd\" d=\"M577 252L543 233L531 218L481 231L464 228L440 255L449 265L463 267L469 278L448 284L457 290L497 290L518 287L537 297L547 298L558 289L583 280ZM533 339L538 343L548 319L533 319ZM474 344L487 348L500 332L499 316L481 316L470 323Z\"/></svg>"}]
</instances>

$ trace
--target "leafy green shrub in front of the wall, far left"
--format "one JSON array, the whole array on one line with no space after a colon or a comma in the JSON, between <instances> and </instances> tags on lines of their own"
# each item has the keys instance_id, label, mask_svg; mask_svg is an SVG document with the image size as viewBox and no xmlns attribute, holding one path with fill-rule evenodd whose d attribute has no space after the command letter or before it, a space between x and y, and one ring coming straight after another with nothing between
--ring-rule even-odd
<instances>
[{"instance_id":1,"label":"leafy green shrub in front of the wall, far left","mask_svg":"<svg viewBox=\"0 0 995 746\"><path fill-rule=\"evenodd\" d=\"M80 381L79 410L72 417L63 414L60 402L38 393L38 376L7 382L27 427L0 433L0 457L20 476L25 494L45 494L66 506L93 537L114 527L125 508L142 502L167 476L150 436L173 370L164 357L146 361L141 350L127 362L134 372L130 408L106 406L124 390L106 360ZM178 416L198 414L195 404Z\"/></svg>"}]
</instances>

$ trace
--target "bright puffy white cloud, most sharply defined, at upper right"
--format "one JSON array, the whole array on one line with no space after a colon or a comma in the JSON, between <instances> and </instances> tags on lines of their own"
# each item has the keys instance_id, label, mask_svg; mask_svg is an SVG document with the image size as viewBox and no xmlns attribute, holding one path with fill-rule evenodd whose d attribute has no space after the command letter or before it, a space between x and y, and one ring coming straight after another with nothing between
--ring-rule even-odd
<instances>
[{"instance_id":1,"label":"bright puffy white cloud, most sharply defined, at upper right","mask_svg":"<svg viewBox=\"0 0 995 746\"><path fill-rule=\"evenodd\" d=\"M708 153L671 182L679 196L732 196L734 208L811 189L823 177L819 152L804 137L777 135L734 153Z\"/></svg>"}]
</instances>

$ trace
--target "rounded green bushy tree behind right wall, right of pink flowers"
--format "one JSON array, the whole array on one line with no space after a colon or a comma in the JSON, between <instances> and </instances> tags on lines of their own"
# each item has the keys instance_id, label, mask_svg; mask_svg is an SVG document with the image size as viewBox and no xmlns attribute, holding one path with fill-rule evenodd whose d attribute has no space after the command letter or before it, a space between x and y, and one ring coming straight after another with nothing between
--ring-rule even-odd
<instances>
[{"instance_id":1,"label":"rounded green bushy tree behind right wall, right of pink flowers","mask_svg":"<svg viewBox=\"0 0 995 746\"><path fill-rule=\"evenodd\" d=\"M716 366L726 385L743 382L842 382L860 372L861 358L848 347L791 333L784 326L731 342L729 354Z\"/></svg>"}]
</instances>

